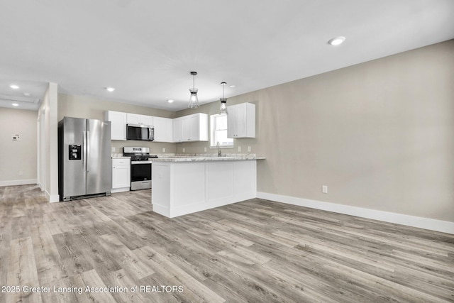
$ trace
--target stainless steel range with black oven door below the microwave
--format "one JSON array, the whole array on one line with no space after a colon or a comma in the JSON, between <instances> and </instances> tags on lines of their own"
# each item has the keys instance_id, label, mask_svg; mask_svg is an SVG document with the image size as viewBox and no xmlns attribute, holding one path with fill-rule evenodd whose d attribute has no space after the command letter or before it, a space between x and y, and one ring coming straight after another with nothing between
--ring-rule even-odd
<instances>
[{"instance_id":1,"label":"stainless steel range with black oven door below the microwave","mask_svg":"<svg viewBox=\"0 0 454 303\"><path fill-rule=\"evenodd\" d=\"M123 155L131 157L131 190L151 188L151 158L150 148L123 148Z\"/></svg>"}]
</instances>

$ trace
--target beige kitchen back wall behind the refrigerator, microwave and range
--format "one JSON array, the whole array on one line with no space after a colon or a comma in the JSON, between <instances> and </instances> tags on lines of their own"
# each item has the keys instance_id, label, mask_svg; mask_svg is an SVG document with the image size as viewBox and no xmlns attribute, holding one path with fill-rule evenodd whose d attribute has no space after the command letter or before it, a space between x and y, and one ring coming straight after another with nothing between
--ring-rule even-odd
<instances>
[{"instance_id":1,"label":"beige kitchen back wall behind the refrigerator, microwave and range","mask_svg":"<svg viewBox=\"0 0 454 303\"><path fill-rule=\"evenodd\" d=\"M99 119L104 120L106 111L123 111L131 114L143 114L148 116L158 116L164 118L174 118L175 111L165 111L162 109L151 109L150 107L124 104L111 99L99 99L87 96L75 96L68 94L58 94L58 121L64 116ZM122 153L125 146L144 146L150 148L150 153L175 153L174 143L158 143L146 141L112 141L114 153Z\"/></svg>"}]
</instances>

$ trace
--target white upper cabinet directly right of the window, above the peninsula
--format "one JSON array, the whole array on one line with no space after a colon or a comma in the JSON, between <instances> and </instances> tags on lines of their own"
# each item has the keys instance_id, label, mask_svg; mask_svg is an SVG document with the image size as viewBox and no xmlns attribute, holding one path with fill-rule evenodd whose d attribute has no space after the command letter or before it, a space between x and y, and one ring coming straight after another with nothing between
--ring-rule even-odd
<instances>
[{"instance_id":1,"label":"white upper cabinet directly right of the window, above the peninsula","mask_svg":"<svg viewBox=\"0 0 454 303\"><path fill-rule=\"evenodd\" d=\"M228 106L227 112L228 138L255 138L255 104Z\"/></svg>"}]
</instances>

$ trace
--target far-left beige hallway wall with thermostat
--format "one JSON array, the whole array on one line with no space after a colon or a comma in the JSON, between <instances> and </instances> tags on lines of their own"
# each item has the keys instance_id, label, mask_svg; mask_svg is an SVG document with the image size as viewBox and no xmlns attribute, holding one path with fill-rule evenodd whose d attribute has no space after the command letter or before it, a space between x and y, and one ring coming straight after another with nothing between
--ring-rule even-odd
<instances>
[{"instance_id":1,"label":"far-left beige hallway wall with thermostat","mask_svg":"<svg viewBox=\"0 0 454 303\"><path fill-rule=\"evenodd\" d=\"M0 186L36 182L36 113L0 108ZM15 135L18 141L12 140Z\"/></svg>"}]
</instances>

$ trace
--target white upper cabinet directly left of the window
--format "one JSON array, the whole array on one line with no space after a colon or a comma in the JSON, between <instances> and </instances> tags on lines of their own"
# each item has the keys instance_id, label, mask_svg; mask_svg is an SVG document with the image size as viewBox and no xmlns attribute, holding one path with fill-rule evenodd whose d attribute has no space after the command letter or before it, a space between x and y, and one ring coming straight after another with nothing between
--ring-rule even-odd
<instances>
[{"instance_id":1,"label":"white upper cabinet directly left of the window","mask_svg":"<svg viewBox=\"0 0 454 303\"><path fill-rule=\"evenodd\" d=\"M207 114L182 116L174 119L173 126L174 142L208 141Z\"/></svg>"}]
</instances>

